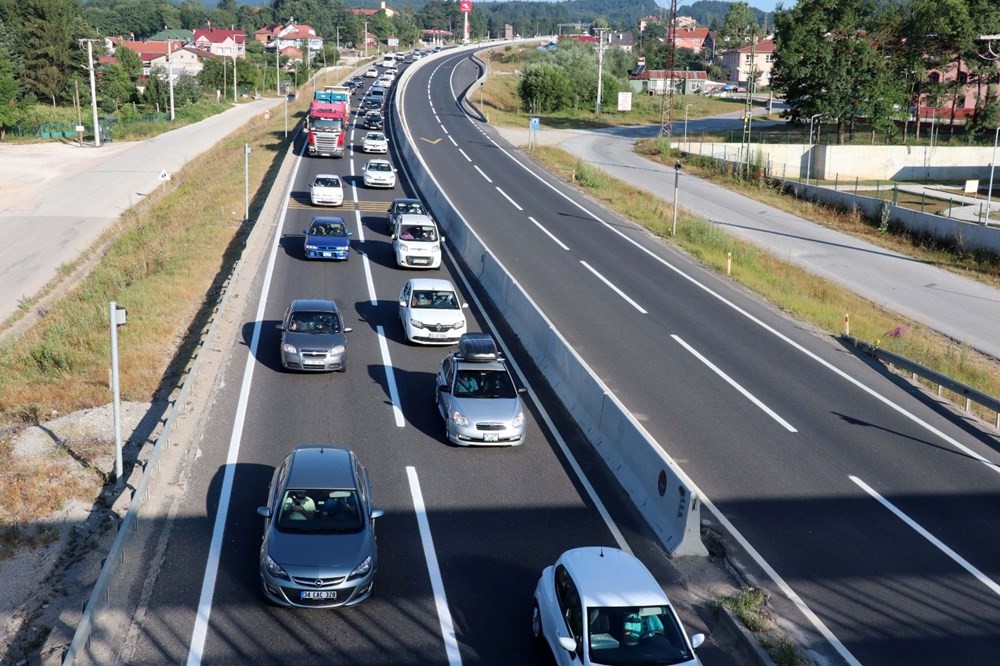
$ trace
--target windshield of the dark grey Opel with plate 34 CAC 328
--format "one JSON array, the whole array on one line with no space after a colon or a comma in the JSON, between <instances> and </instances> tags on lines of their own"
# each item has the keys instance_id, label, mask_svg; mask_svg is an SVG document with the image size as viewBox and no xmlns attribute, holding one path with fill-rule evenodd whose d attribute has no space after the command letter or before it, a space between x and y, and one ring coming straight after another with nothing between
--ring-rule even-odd
<instances>
[{"instance_id":1,"label":"windshield of the dark grey Opel with plate 34 CAC 328","mask_svg":"<svg viewBox=\"0 0 1000 666\"><path fill-rule=\"evenodd\" d=\"M353 490L286 490L276 523L280 532L349 534L364 529L361 502Z\"/></svg>"}]
</instances>

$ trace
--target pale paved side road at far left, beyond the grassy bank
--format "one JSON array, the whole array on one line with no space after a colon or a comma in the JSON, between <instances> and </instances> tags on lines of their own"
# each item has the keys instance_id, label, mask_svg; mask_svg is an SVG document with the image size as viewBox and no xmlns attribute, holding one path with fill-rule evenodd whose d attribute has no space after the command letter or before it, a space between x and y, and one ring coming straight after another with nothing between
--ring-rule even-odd
<instances>
[{"instance_id":1,"label":"pale paved side road at far left, beyond the grassy bank","mask_svg":"<svg viewBox=\"0 0 1000 666\"><path fill-rule=\"evenodd\" d=\"M159 187L161 172L176 173L281 103L256 100L146 141L100 148L0 145L0 321Z\"/></svg>"}]
</instances>

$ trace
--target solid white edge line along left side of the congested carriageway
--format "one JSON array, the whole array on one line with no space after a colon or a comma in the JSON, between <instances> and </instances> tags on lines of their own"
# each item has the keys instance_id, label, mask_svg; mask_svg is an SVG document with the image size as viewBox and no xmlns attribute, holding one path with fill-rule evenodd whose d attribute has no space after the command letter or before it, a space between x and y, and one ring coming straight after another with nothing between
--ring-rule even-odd
<instances>
[{"instance_id":1,"label":"solid white edge line along left side of the congested carriageway","mask_svg":"<svg viewBox=\"0 0 1000 666\"><path fill-rule=\"evenodd\" d=\"M292 185L302 163L300 154L292 169L292 177L288 181L288 191L285 200L292 196ZM229 436L229 452L226 454L226 469L222 476L222 487L219 489L218 511L212 526L212 541L208 547L208 558L205 561L205 578L201 583L201 594L198 598L198 611L195 615L194 629L191 631L191 646L188 648L188 666L199 666L205 651L205 638L208 636L208 621L212 614L212 599L215 596L215 581L219 575L219 561L222 556L222 537L226 530L226 518L229 515L229 500L233 491L233 475L240 457L240 443L243 439L243 425L246 422L247 405L250 402L250 386L253 380L253 369L257 365L257 350L260 344L260 330L264 323L264 307L267 305L267 294L271 288L271 278L274 275L274 263L278 256L278 246L281 243L282 229L285 226L285 216L288 207L281 209L278 216L278 228L271 243L271 255L267 259L267 270L264 273L264 284L261 286L260 303L257 305L256 323L253 335L250 337L250 349L246 363L243 366L243 383L240 385L240 397L236 404L236 415L233 419L233 432Z\"/></svg>"}]
</instances>

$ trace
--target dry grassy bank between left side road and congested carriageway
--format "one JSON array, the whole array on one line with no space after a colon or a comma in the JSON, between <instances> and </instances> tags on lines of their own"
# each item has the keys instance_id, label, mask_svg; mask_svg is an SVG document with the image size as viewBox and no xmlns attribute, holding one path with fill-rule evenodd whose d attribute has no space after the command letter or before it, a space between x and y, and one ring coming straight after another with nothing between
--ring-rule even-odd
<instances>
[{"instance_id":1,"label":"dry grassy bank between left side road and congested carriageway","mask_svg":"<svg viewBox=\"0 0 1000 666\"><path fill-rule=\"evenodd\" d=\"M346 71L346 70L345 70ZM289 104L292 127L309 95ZM289 135L291 136L291 134ZM251 222L243 222L244 143L251 146ZM0 343L0 559L15 545L43 543L50 530L33 524L70 499L93 502L108 481L89 467L108 441L80 441L64 456L30 464L12 454L23 427L105 405L108 387L108 302L128 309L118 331L122 400L150 402L173 390L192 358L221 279L238 259L288 148L284 116L258 117L223 139L129 209L88 254L96 267L78 283L57 283L44 307L24 302L4 329L37 318ZM211 202L206 205L205 202ZM64 277L73 267L66 267ZM88 468L90 475L67 467Z\"/></svg>"}]
</instances>

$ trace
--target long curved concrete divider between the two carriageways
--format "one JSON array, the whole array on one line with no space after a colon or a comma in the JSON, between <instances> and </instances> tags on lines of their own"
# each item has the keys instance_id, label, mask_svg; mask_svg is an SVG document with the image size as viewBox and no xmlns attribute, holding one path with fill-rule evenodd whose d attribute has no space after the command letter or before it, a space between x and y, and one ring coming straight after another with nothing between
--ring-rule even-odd
<instances>
[{"instance_id":1,"label":"long curved concrete divider between the two carriageways","mask_svg":"<svg viewBox=\"0 0 1000 666\"><path fill-rule=\"evenodd\" d=\"M397 87L401 99L411 70ZM672 556L707 555L701 495L694 483L587 365L452 205L415 151L401 106L389 119L400 163L444 229L451 251L515 332L622 488Z\"/></svg>"}]
</instances>

